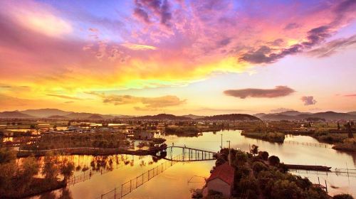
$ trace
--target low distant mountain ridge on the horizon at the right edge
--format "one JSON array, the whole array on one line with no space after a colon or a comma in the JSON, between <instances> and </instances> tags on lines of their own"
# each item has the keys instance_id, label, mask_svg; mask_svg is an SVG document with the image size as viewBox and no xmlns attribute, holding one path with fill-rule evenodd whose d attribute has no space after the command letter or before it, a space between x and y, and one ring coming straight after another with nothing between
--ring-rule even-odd
<instances>
[{"instance_id":1,"label":"low distant mountain ridge on the horizon at the right edge","mask_svg":"<svg viewBox=\"0 0 356 199\"><path fill-rule=\"evenodd\" d=\"M263 120L297 120L297 119L307 119L307 118L320 118L326 120L337 120L337 119L356 119L356 114L347 114L339 112L318 112L318 113L308 113L308 112L286 112L277 114L260 114L259 118Z\"/></svg>"}]
</instances>

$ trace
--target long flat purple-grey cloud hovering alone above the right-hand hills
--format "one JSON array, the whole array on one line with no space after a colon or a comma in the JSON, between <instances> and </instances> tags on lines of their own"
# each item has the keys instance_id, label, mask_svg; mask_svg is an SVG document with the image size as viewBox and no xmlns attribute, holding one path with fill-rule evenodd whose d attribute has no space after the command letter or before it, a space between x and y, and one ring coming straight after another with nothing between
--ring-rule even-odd
<instances>
[{"instance_id":1,"label":"long flat purple-grey cloud hovering alone above the right-hand hills","mask_svg":"<svg viewBox=\"0 0 356 199\"><path fill-rule=\"evenodd\" d=\"M290 95L295 92L295 90L291 89L287 86L276 86L273 89L258 89L258 88L247 88L241 90L225 90L224 94L232 97L240 97L241 99L245 99L246 97L283 97Z\"/></svg>"}]
</instances>

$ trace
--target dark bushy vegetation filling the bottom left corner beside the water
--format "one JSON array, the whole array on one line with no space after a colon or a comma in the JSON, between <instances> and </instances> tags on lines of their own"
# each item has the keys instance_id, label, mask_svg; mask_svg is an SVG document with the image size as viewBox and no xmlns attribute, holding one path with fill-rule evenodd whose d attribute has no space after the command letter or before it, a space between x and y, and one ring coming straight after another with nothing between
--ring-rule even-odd
<instances>
[{"instance_id":1,"label":"dark bushy vegetation filling the bottom left corner beside the water","mask_svg":"<svg viewBox=\"0 0 356 199\"><path fill-rule=\"evenodd\" d=\"M66 179L73 174L74 164L64 158L48 154L43 166L34 157L16 163L16 153L0 149L0 195L5 198L23 198L66 186ZM41 171L44 178L36 177ZM63 176L64 181L58 177Z\"/></svg>"}]
</instances>

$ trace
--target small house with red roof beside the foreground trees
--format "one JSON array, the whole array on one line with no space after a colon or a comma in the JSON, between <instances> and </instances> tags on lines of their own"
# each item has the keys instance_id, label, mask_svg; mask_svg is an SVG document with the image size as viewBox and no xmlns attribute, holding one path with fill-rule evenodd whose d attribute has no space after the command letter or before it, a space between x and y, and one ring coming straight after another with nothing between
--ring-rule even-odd
<instances>
[{"instance_id":1,"label":"small house with red roof beside the foreground trees","mask_svg":"<svg viewBox=\"0 0 356 199\"><path fill-rule=\"evenodd\" d=\"M203 195L209 193L209 190L220 192L224 198L230 198L234 188L235 169L228 162L216 166L210 177L206 179L206 187Z\"/></svg>"}]
</instances>

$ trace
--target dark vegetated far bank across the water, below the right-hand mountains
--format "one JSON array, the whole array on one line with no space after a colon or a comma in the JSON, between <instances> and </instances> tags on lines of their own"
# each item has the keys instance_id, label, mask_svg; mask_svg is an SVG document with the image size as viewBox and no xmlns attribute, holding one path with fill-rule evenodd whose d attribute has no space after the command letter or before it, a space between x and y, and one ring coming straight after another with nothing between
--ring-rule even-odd
<instances>
[{"instance_id":1,"label":"dark vegetated far bank across the water, below the right-hand mountains","mask_svg":"<svg viewBox=\"0 0 356 199\"><path fill-rule=\"evenodd\" d=\"M312 120L307 122L244 122L238 124L237 129L244 130L242 133L244 136L280 143L284 141L283 134L302 134L312 136L321 142L334 144L333 149L336 150L356 151L356 144L353 141L356 136L355 122L343 124L340 122L323 122L323 120L318 122Z\"/></svg>"}]
</instances>

